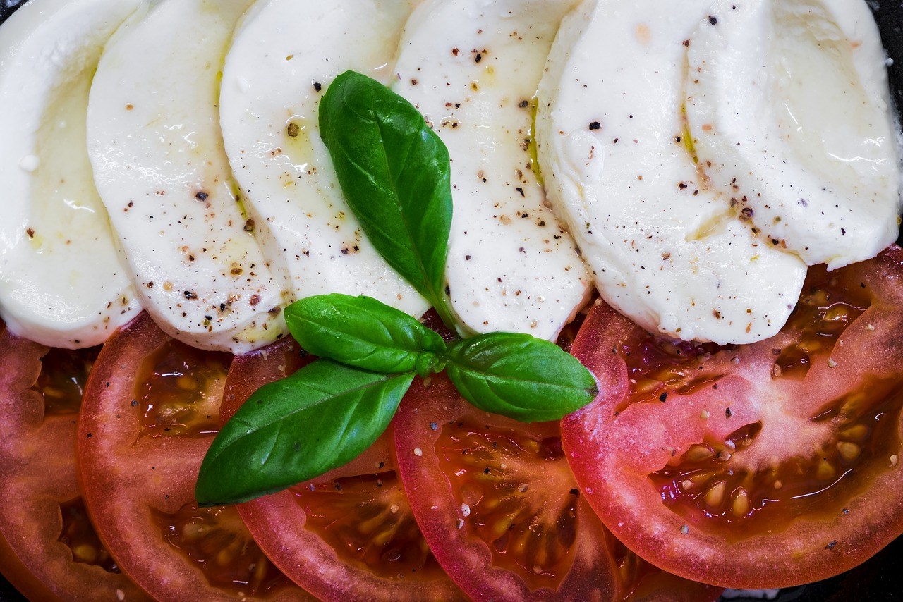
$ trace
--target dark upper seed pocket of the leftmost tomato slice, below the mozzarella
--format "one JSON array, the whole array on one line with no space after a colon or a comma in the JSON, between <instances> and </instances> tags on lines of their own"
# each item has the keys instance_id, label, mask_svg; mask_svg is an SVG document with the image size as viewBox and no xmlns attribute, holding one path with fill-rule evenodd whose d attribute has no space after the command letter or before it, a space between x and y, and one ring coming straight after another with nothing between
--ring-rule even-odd
<instances>
[{"instance_id":1,"label":"dark upper seed pocket of the leftmost tomato slice, below the mozzarella","mask_svg":"<svg viewBox=\"0 0 903 602\"><path fill-rule=\"evenodd\" d=\"M41 374L33 389L44 399L44 415L79 413L85 383L100 347L51 349L41 360Z\"/></svg>"}]
</instances>

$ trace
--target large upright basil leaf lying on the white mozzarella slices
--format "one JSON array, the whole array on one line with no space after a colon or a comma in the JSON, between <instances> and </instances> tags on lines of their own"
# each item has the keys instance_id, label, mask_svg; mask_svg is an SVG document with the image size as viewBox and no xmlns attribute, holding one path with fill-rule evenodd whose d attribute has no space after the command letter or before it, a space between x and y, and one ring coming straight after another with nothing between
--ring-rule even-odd
<instances>
[{"instance_id":1,"label":"large upright basil leaf lying on the white mozzarella slices","mask_svg":"<svg viewBox=\"0 0 903 602\"><path fill-rule=\"evenodd\" d=\"M349 207L371 243L439 312L452 228L452 166L445 144L416 108L354 71L320 101L320 134Z\"/></svg>"}]
</instances>

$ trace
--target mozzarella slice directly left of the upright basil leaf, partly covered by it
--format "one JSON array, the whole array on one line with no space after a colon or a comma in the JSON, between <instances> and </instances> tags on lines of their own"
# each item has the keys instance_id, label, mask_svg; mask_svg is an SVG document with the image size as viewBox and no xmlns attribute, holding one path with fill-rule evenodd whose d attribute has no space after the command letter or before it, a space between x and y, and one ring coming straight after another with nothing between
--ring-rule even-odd
<instances>
[{"instance_id":1,"label":"mozzarella slice directly left of the upright basil leaf, partly covered by it","mask_svg":"<svg viewBox=\"0 0 903 602\"><path fill-rule=\"evenodd\" d=\"M376 297L419 317L429 307L364 238L320 138L317 107L347 69L386 81L406 0L270 0L228 51L220 95L226 150L266 254L295 298Z\"/></svg>"}]
</instances>

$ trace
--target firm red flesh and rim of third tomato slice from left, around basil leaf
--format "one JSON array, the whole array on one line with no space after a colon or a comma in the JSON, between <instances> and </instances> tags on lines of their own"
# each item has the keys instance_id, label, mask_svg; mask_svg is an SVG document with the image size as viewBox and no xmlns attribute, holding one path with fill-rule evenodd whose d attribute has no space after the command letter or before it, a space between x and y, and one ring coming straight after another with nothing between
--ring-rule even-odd
<instances>
[{"instance_id":1,"label":"firm red flesh and rim of third tomato slice from left, around basil leaf","mask_svg":"<svg viewBox=\"0 0 903 602\"><path fill-rule=\"evenodd\" d=\"M300 349L291 340L237 357L229 370L221 419L233 413L264 384L289 375L312 361L299 357ZM390 431L364 454L348 465L317 477L303 486L333 479L372 474L394 466ZM350 566L337 557L320 535L305 528L307 514L295 501L291 490L267 495L238 506L238 512L267 556L286 575L322 600L462 600L464 597L444 575L436 579L384 579L367 570Z\"/></svg>"}]
</instances>

